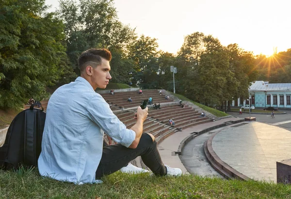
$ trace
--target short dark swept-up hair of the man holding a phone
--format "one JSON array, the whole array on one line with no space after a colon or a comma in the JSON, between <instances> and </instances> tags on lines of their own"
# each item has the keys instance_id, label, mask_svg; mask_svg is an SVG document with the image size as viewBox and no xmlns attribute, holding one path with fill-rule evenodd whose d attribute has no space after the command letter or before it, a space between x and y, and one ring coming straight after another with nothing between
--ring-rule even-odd
<instances>
[{"instance_id":1,"label":"short dark swept-up hair of the man holding a phone","mask_svg":"<svg viewBox=\"0 0 291 199\"><path fill-rule=\"evenodd\" d=\"M89 49L81 53L78 58L78 67L83 71L87 66L97 67L101 65L101 58L111 61L111 52L107 49Z\"/></svg>"}]
</instances>

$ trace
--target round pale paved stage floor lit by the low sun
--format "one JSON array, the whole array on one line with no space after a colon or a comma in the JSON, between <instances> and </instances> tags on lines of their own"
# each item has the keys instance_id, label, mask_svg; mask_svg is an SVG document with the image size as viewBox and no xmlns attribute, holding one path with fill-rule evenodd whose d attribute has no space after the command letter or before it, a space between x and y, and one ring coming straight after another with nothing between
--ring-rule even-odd
<instances>
[{"instance_id":1,"label":"round pale paved stage floor lit by the low sun","mask_svg":"<svg viewBox=\"0 0 291 199\"><path fill-rule=\"evenodd\" d=\"M212 148L222 161L247 177L276 182L276 162L291 158L291 132L243 122L215 135Z\"/></svg>"}]
</instances>

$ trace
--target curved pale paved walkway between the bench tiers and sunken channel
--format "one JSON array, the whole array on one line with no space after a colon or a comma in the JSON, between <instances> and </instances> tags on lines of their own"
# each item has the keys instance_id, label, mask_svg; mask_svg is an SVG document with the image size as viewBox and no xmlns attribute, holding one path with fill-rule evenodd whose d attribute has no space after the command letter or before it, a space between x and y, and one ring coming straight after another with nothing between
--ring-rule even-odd
<instances>
[{"instance_id":1,"label":"curved pale paved walkway between the bench tiers and sunken channel","mask_svg":"<svg viewBox=\"0 0 291 199\"><path fill-rule=\"evenodd\" d=\"M185 166L181 163L181 160L178 155L172 155L172 152L178 151L178 147L181 143L181 141L190 135L190 133L201 131L203 129L216 126L219 124L222 124L226 121L234 121L234 120L239 120L240 118L226 118L226 119L221 119L215 122L208 122L204 124L199 124L194 127L188 128L183 130L182 132L177 132L174 133L173 135L167 137L164 139L158 146L159 152L162 157L162 161L164 164L169 165L171 167L178 167L182 169L183 173L188 173L187 169Z\"/></svg>"}]
</instances>

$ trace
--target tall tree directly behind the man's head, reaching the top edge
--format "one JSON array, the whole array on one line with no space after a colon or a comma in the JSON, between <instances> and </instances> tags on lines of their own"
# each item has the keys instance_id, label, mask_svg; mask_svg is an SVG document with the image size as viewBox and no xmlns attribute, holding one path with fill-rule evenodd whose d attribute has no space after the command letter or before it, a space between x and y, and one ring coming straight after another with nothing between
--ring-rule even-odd
<instances>
[{"instance_id":1,"label":"tall tree directly behind the man's head, reaching the top edge","mask_svg":"<svg viewBox=\"0 0 291 199\"><path fill-rule=\"evenodd\" d=\"M58 14L64 20L67 55L77 74L82 51L107 48L112 52L113 82L129 82L133 67L129 46L137 36L135 29L118 20L113 0L61 0Z\"/></svg>"}]
</instances>

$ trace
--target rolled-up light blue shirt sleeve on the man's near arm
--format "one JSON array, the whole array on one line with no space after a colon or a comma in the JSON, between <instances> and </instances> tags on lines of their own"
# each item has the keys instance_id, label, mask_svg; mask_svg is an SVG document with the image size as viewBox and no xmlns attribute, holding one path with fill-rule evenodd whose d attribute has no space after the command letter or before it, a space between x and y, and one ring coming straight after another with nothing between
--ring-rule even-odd
<instances>
[{"instance_id":1,"label":"rolled-up light blue shirt sleeve on the man's near arm","mask_svg":"<svg viewBox=\"0 0 291 199\"><path fill-rule=\"evenodd\" d=\"M129 147L135 139L136 133L126 126L115 116L109 104L98 95L93 97L88 105L89 117L101 129L104 130L115 142L125 147Z\"/></svg>"}]
</instances>

